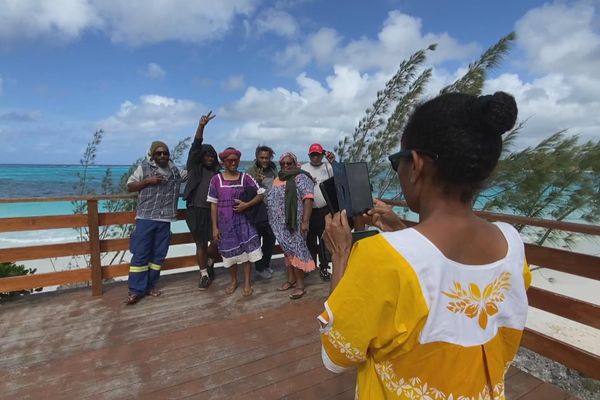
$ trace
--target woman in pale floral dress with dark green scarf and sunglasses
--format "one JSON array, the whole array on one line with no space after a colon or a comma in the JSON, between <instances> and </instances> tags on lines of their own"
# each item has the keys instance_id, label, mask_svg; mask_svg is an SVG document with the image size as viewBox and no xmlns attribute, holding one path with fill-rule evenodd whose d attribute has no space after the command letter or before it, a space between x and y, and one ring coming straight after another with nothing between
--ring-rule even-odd
<instances>
[{"instance_id":1,"label":"woman in pale floral dress with dark green scarf and sunglasses","mask_svg":"<svg viewBox=\"0 0 600 400\"><path fill-rule=\"evenodd\" d=\"M281 170L267 194L269 223L283 249L287 281L280 291L292 289L290 299L304 296L304 273L315 269L306 246L308 222L312 212L314 183L307 172L298 167L296 156L284 153L279 159Z\"/></svg>"}]
</instances>

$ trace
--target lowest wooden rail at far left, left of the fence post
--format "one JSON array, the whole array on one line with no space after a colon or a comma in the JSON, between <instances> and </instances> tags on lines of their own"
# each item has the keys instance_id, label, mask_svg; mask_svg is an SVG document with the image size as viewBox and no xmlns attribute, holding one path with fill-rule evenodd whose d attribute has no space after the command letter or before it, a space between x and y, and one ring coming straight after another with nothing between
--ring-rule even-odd
<instances>
[{"instance_id":1,"label":"lowest wooden rail at far left, left of the fence post","mask_svg":"<svg viewBox=\"0 0 600 400\"><path fill-rule=\"evenodd\" d=\"M67 283L87 282L91 280L90 272L89 268L82 268L70 271L2 278L0 279L0 292L16 292L18 290L65 285Z\"/></svg>"}]
</instances>

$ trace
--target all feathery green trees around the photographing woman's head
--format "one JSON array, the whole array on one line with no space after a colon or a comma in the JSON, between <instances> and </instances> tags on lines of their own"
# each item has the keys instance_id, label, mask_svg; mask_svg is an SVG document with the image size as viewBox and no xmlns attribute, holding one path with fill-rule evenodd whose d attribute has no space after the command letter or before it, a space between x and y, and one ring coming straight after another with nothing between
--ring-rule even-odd
<instances>
[{"instance_id":1,"label":"all feathery green trees around the photographing woman's head","mask_svg":"<svg viewBox=\"0 0 600 400\"><path fill-rule=\"evenodd\" d=\"M487 75L500 65L515 39L512 32L500 39L440 93L480 95ZM400 63L385 88L377 92L354 133L343 137L335 147L340 161L368 163L379 198L402 196L387 155L399 147L398 132L422 100L431 78L431 68L424 65L428 52L435 49L432 44ZM577 135L567 135L562 130L534 147L514 150L515 140L526 126L527 121L521 121L505 135L503 155L475 208L556 221L600 221L600 141L580 143ZM570 247L577 235L519 225L517 229L529 242L539 245L549 242L557 247Z\"/></svg>"}]
</instances>

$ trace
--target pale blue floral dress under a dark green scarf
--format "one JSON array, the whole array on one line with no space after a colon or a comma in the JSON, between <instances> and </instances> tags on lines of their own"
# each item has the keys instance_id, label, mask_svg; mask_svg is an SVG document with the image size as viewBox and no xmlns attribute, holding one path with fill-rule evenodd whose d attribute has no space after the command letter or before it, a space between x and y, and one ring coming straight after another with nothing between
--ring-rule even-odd
<instances>
[{"instance_id":1,"label":"pale blue floral dress under a dark green scarf","mask_svg":"<svg viewBox=\"0 0 600 400\"><path fill-rule=\"evenodd\" d=\"M314 198L314 183L304 174L298 174L294 179L298 203L297 229L290 231L285 225L285 181L279 178L273 181L273 187L266 197L269 224L283 249L285 264L308 272L315 269L315 262L306 246L306 237L302 234L300 226L304 215L303 201Z\"/></svg>"}]
</instances>

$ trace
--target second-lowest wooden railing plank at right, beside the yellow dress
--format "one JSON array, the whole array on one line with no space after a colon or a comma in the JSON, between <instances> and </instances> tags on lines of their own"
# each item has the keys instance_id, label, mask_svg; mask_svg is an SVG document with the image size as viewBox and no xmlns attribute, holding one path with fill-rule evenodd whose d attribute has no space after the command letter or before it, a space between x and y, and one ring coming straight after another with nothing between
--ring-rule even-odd
<instances>
[{"instance_id":1,"label":"second-lowest wooden railing plank at right, beside the yellow dress","mask_svg":"<svg viewBox=\"0 0 600 400\"><path fill-rule=\"evenodd\" d=\"M600 306L536 287L527 297L532 307L600 329Z\"/></svg>"}]
</instances>

